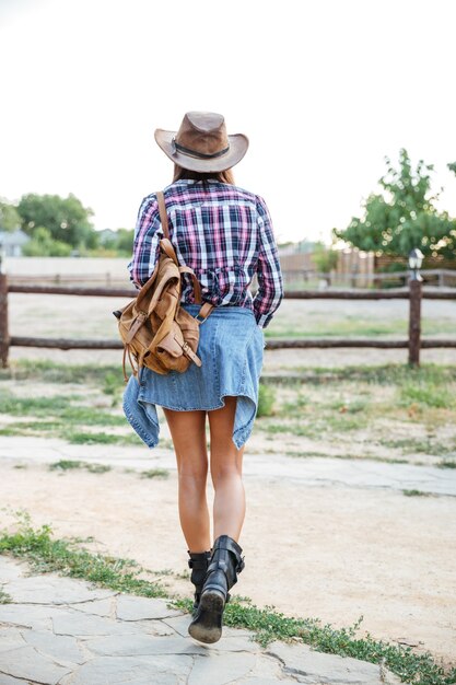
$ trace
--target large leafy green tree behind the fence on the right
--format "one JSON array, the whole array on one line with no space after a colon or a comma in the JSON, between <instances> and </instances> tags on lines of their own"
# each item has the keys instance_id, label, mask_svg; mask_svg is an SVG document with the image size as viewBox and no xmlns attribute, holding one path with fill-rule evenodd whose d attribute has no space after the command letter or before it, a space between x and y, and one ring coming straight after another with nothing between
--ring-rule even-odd
<instances>
[{"instance_id":1,"label":"large leafy green tree behind the fence on the right","mask_svg":"<svg viewBox=\"0 0 456 685\"><path fill-rule=\"evenodd\" d=\"M407 150L399 153L399 170L386 158L387 173L379 179L383 194L364 202L364 216L353 217L336 237L353 247L407 257L413 247L424 256L456 258L456 220L439 212L439 193L431 193L432 164L420 160L413 170Z\"/></svg>"}]
</instances>

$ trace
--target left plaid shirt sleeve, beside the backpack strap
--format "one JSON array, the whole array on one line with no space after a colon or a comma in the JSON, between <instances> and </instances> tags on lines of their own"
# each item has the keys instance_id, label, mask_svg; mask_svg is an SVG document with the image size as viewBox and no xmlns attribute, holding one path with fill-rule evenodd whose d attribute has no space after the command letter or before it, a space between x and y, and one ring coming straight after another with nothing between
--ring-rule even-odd
<instances>
[{"instance_id":1,"label":"left plaid shirt sleeve, beside the backpack strap","mask_svg":"<svg viewBox=\"0 0 456 685\"><path fill-rule=\"evenodd\" d=\"M155 268L163 237L156 195L145 197L139 208L135 228L133 254L128 265L130 280L139 289Z\"/></svg>"}]
</instances>

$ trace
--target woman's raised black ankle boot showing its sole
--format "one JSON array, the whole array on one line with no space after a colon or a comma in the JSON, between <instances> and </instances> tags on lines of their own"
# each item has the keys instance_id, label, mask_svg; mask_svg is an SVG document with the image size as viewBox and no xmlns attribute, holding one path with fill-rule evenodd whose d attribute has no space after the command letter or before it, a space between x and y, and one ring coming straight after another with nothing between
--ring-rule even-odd
<instances>
[{"instance_id":1,"label":"woman's raised black ankle boot showing its sole","mask_svg":"<svg viewBox=\"0 0 456 685\"><path fill-rule=\"evenodd\" d=\"M227 535L217 538L200 602L188 627L188 632L200 642L217 642L222 636L222 616L229 590L237 582L244 568L239 545Z\"/></svg>"}]
</instances>

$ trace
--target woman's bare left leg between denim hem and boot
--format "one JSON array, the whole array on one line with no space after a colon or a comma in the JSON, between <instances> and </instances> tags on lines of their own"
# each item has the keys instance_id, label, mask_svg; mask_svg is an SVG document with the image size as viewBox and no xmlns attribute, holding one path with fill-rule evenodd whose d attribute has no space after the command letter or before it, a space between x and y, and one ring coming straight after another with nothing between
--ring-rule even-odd
<instances>
[{"instance_id":1,"label":"woman's bare left leg between denim hem and boot","mask_svg":"<svg viewBox=\"0 0 456 685\"><path fill-rule=\"evenodd\" d=\"M206 552L211 548L206 499L208 477L206 411L163 410L177 458L179 518L184 537L190 552Z\"/></svg>"}]
</instances>

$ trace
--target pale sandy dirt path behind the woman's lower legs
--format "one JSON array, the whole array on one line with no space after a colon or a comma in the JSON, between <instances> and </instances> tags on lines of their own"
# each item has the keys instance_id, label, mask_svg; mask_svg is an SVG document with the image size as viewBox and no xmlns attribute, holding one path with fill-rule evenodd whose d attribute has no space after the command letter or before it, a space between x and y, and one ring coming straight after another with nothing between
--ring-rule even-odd
<instances>
[{"instance_id":1,"label":"pale sandy dirt path behind the woman's lower legs","mask_svg":"<svg viewBox=\"0 0 456 685\"><path fill-rule=\"evenodd\" d=\"M59 475L21 464L14 467L13 455L0 464L5 524L25 509L35 525L51 523L57 536L94 536L92 549L133 558L188 593L188 581L173 576L186 571L187 559L174 471L167 479L142 479L121 467ZM239 594L335 627L363 615L362 631L375 638L456 661L456 498L363 488L353 497L350 487L277 477L246 476L245 486Z\"/></svg>"}]
</instances>

